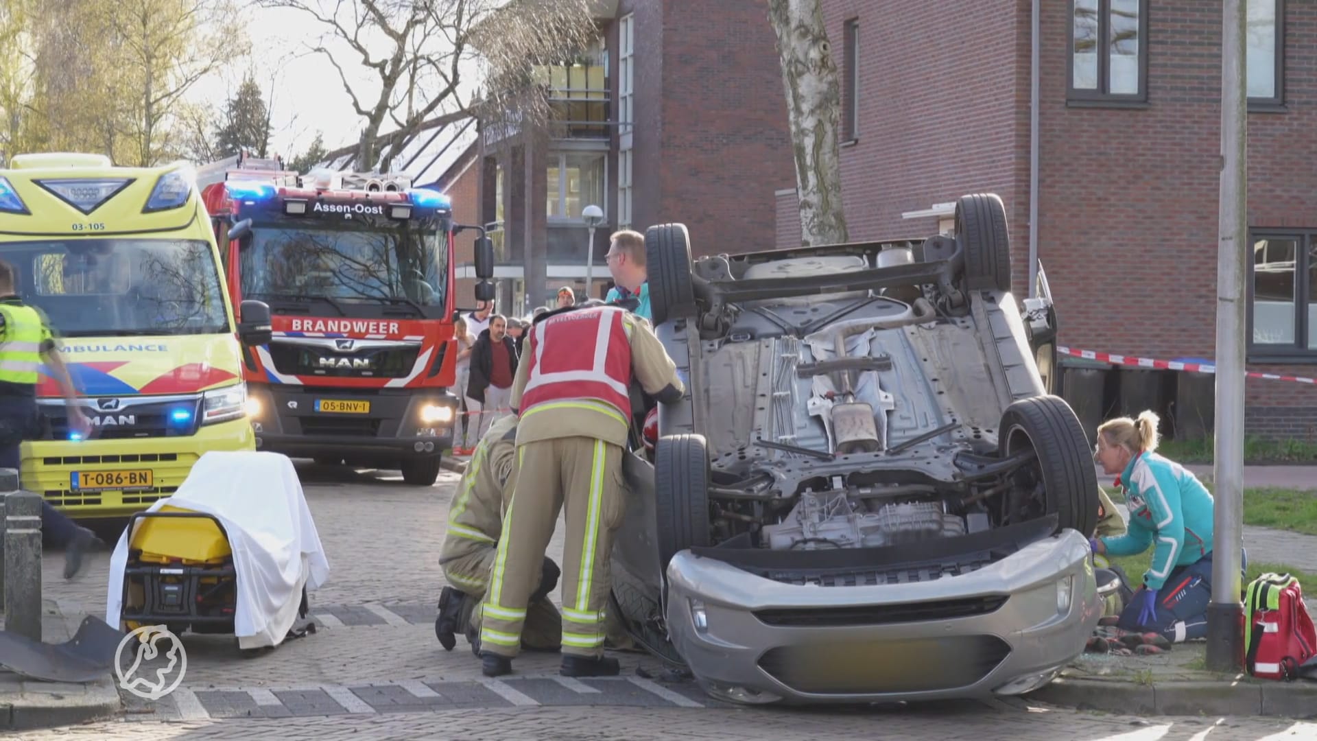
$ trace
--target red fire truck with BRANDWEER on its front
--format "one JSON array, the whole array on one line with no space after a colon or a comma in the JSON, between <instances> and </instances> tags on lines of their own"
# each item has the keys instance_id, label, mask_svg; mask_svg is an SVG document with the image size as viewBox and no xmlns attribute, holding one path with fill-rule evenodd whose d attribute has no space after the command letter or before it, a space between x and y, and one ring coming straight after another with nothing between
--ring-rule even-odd
<instances>
[{"instance_id":1,"label":"red fire truck with BRANDWEER on its front","mask_svg":"<svg viewBox=\"0 0 1317 741\"><path fill-rule=\"evenodd\" d=\"M433 484L457 418L453 236L481 231L475 293L489 301L483 229L454 225L446 196L399 177L238 154L198 169L198 185L233 306L269 307L270 344L242 348L257 447Z\"/></svg>"}]
</instances>

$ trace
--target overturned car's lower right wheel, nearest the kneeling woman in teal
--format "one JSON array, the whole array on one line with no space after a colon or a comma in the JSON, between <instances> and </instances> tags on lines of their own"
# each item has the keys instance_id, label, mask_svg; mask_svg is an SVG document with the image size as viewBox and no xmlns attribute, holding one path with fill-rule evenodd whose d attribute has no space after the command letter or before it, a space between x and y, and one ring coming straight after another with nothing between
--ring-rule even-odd
<instances>
[{"instance_id":1,"label":"overturned car's lower right wheel, nearest the kneeling woman in teal","mask_svg":"<svg viewBox=\"0 0 1317 741\"><path fill-rule=\"evenodd\" d=\"M1001 415L998 451L1004 458L1033 448L1035 460L1010 475L1004 517L1022 522L1048 514L1092 537L1100 506L1097 473L1088 438L1075 410L1056 396L1022 398Z\"/></svg>"}]
</instances>

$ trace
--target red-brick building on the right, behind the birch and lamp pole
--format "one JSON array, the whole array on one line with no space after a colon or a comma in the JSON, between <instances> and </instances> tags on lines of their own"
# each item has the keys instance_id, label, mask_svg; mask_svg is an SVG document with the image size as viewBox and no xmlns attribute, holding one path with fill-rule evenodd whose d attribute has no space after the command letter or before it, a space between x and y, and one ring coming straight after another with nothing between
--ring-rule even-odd
<instances>
[{"instance_id":1,"label":"red-brick building on the right, behind the birch and lamp pole","mask_svg":"<svg viewBox=\"0 0 1317 741\"><path fill-rule=\"evenodd\" d=\"M1317 7L1247 5L1249 369L1314 376ZM961 194L997 193L1015 291L1027 291L1036 253L1062 344L1171 360L1214 355L1220 0L982 0L975 13L921 0L823 7L846 102L842 175L853 240L935 233L950 228L950 203ZM778 179L780 245L799 240L792 185L790 173ZM1184 374L1109 374L1106 413L1154 406L1185 415L1184 397L1171 403ZM1246 426L1310 439L1317 390L1250 378Z\"/></svg>"}]
</instances>

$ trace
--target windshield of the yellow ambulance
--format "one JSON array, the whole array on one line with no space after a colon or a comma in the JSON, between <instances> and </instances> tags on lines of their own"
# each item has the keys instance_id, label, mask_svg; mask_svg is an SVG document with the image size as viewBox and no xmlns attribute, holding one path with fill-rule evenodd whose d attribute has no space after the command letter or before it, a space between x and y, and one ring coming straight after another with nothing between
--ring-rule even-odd
<instances>
[{"instance_id":1,"label":"windshield of the yellow ambulance","mask_svg":"<svg viewBox=\"0 0 1317 741\"><path fill-rule=\"evenodd\" d=\"M174 239L0 244L18 294L67 338L232 332L211 245Z\"/></svg>"}]
</instances>

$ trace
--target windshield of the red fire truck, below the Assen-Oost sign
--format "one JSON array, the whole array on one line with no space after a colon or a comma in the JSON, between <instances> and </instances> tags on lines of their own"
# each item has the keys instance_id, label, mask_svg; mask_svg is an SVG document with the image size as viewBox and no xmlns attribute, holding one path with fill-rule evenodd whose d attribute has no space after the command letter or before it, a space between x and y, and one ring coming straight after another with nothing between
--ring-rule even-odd
<instances>
[{"instance_id":1,"label":"windshield of the red fire truck, below the Assen-Oost sign","mask_svg":"<svg viewBox=\"0 0 1317 741\"><path fill-rule=\"evenodd\" d=\"M385 302L423 314L441 309L448 287L443 225L383 219L255 224L241 252L242 297Z\"/></svg>"}]
</instances>

